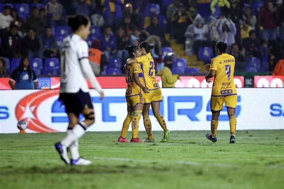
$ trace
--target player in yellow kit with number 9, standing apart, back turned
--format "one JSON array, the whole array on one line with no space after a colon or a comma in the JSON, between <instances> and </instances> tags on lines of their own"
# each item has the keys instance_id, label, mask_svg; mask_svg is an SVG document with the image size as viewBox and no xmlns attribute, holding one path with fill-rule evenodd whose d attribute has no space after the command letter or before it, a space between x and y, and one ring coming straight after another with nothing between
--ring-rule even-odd
<instances>
[{"instance_id":1,"label":"player in yellow kit with number 9, standing apart, back turned","mask_svg":"<svg viewBox=\"0 0 284 189\"><path fill-rule=\"evenodd\" d=\"M235 116L237 90L234 84L235 58L227 54L226 49L227 43L224 41L216 43L216 52L218 56L212 58L211 64L206 64L204 66L205 69L210 66L210 72L205 76L206 82L211 83L212 80L210 78L214 77L210 104L212 112L211 134L206 133L206 138L212 142L217 141L218 119L225 102L230 122L230 143L235 143L237 125Z\"/></svg>"}]
</instances>

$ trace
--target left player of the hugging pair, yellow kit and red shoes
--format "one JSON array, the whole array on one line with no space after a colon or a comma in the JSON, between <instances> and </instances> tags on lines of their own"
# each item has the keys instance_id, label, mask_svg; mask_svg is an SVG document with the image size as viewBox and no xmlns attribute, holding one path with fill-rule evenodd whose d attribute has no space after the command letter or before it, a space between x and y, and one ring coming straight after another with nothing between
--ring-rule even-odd
<instances>
[{"instance_id":1,"label":"left player of the hugging pair, yellow kit and red shoes","mask_svg":"<svg viewBox=\"0 0 284 189\"><path fill-rule=\"evenodd\" d=\"M125 50L128 50L128 53L131 58L136 58L141 56L142 51L138 46L126 46ZM125 137L128 131L130 122L132 122L132 139L131 142L142 142L138 138L138 128L139 120L142 115L143 110L143 97L142 91L147 94L149 90L146 88L143 74L141 70L141 65L139 63L128 64L126 68L126 82L127 89L125 92L126 103L127 103L127 116L123 122L121 135L118 139L119 142L129 142Z\"/></svg>"}]
</instances>

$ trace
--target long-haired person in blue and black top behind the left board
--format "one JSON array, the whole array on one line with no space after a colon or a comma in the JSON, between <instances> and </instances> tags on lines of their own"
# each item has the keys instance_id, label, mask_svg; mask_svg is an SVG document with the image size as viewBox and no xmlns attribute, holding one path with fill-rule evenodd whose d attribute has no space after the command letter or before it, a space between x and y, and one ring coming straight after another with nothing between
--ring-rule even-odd
<instances>
[{"instance_id":1,"label":"long-haired person in blue and black top behind the left board","mask_svg":"<svg viewBox=\"0 0 284 189\"><path fill-rule=\"evenodd\" d=\"M16 82L14 84L14 82ZM30 68L28 57L23 57L20 61L20 66L12 72L9 85L12 89L37 89L38 79L35 71Z\"/></svg>"}]
</instances>

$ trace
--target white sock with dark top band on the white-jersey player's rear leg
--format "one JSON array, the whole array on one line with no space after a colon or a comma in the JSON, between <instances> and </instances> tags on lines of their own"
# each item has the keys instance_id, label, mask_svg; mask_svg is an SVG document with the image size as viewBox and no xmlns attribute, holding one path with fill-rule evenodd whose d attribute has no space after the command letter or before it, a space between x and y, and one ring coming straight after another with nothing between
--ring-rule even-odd
<instances>
[{"instance_id":1,"label":"white sock with dark top band on the white-jersey player's rear leg","mask_svg":"<svg viewBox=\"0 0 284 189\"><path fill-rule=\"evenodd\" d=\"M84 135L86 128L87 127L84 122L77 123L72 131L61 141L61 144L68 148L73 141L78 140Z\"/></svg>"}]
</instances>

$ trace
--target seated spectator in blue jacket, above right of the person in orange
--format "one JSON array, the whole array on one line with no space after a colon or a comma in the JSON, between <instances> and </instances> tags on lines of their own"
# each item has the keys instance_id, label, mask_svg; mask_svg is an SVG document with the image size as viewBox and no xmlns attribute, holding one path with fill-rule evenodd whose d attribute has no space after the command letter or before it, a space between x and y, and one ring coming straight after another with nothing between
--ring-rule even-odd
<instances>
[{"instance_id":1,"label":"seated spectator in blue jacket, above right of the person in orange","mask_svg":"<svg viewBox=\"0 0 284 189\"><path fill-rule=\"evenodd\" d=\"M117 53L117 45L116 38L112 35L111 26L104 26L104 33L98 39L100 40L100 50L104 52L108 59L114 58Z\"/></svg>"}]
</instances>

